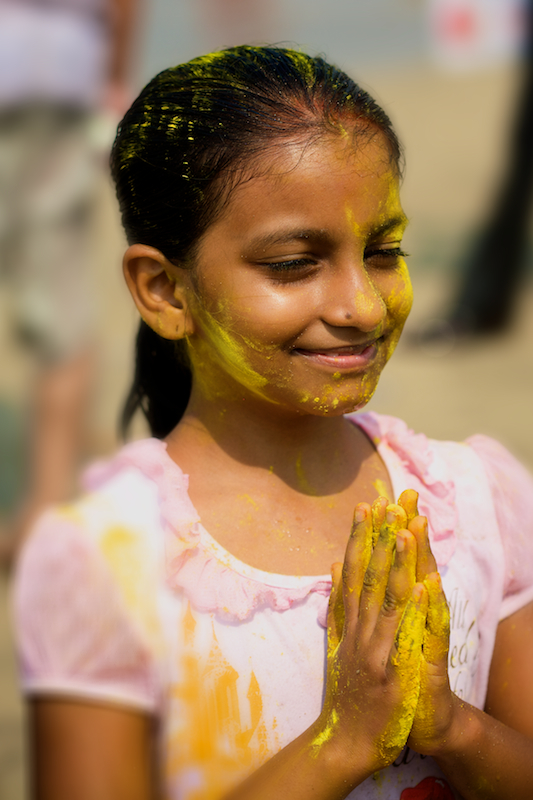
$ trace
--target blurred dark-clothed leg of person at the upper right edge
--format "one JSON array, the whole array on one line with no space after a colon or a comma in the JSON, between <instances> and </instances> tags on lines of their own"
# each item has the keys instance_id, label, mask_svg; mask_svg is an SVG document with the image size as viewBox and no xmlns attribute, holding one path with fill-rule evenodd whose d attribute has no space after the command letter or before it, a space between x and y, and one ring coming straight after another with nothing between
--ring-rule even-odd
<instances>
[{"instance_id":1,"label":"blurred dark-clothed leg of person at the upper right edge","mask_svg":"<svg viewBox=\"0 0 533 800\"><path fill-rule=\"evenodd\" d=\"M526 274L533 197L533 0L524 3L521 88L508 139L508 154L494 201L462 265L451 309L416 334L450 342L506 330ZM472 23L473 24L473 23ZM471 26L470 26L471 27ZM468 20L463 18L468 33Z\"/></svg>"}]
</instances>

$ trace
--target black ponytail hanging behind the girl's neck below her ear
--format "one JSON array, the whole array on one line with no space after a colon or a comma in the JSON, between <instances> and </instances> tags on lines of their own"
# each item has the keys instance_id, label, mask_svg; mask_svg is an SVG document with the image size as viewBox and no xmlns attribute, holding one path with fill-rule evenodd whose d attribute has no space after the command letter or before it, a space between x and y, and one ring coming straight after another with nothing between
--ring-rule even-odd
<instances>
[{"instance_id":1,"label":"black ponytail hanging behind the girl's neck below her ear","mask_svg":"<svg viewBox=\"0 0 533 800\"><path fill-rule=\"evenodd\" d=\"M182 418L191 395L192 373L186 344L158 336L141 320L135 346L135 374L122 411L120 430L126 434L140 409L152 436L163 439Z\"/></svg>"}]
</instances>

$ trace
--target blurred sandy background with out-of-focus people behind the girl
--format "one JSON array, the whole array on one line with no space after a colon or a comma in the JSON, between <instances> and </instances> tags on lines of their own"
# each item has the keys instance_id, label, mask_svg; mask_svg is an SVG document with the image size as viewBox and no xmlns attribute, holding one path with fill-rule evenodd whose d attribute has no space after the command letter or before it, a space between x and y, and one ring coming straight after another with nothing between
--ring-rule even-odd
<instances>
[{"instance_id":1,"label":"blurred sandy background with out-of-focus people behind the girl","mask_svg":"<svg viewBox=\"0 0 533 800\"><path fill-rule=\"evenodd\" d=\"M119 443L138 318L106 160L131 99L160 69L242 42L350 72L403 141L411 219L415 305L370 407L435 438L490 434L533 466L530 6L0 0L0 800L27 788L12 543Z\"/></svg>"}]
</instances>

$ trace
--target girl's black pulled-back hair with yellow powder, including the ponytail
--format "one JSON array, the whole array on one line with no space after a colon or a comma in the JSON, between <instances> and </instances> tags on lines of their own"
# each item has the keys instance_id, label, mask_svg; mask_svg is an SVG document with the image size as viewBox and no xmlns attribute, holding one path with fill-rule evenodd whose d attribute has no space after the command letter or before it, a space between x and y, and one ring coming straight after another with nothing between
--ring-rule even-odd
<instances>
[{"instance_id":1,"label":"girl's black pulled-back hair with yellow powder, including the ponytail","mask_svg":"<svg viewBox=\"0 0 533 800\"><path fill-rule=\"evenodd\" d=\"M356 138L383 134L400 172L400 144L385 112L322 58L241 46L164 70L126 113L111 153L128 241L193 266L200 237L259 158L283 142L344 131L343 123ZM122 431L140 408L162 438L189 400L187 345L160 338L141 321L136 347Z\"/></svg>"}]
</instances>

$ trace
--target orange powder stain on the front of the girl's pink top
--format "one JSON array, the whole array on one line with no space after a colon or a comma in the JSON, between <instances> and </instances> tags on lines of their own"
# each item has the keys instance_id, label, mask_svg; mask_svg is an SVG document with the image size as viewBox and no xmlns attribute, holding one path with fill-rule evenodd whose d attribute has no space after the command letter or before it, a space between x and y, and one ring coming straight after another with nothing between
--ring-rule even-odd
<instances>
[{"instance_id":1,"label":"orange powder stain on the front of the girl's pink top","mask_svg":"<svg viewBox=\"0 0 533 800\"><path fill-rule=\"evenodd\" d=\"M206 656L199 655L190 607L183 624L183 674L172 693L179 728L170 732L168 771L172 776L194 774L188 800L218 800L273 755L263 700L253 671L243 697L239 674L224 657L214 630Z\"/></svg>"}]
</instances>

